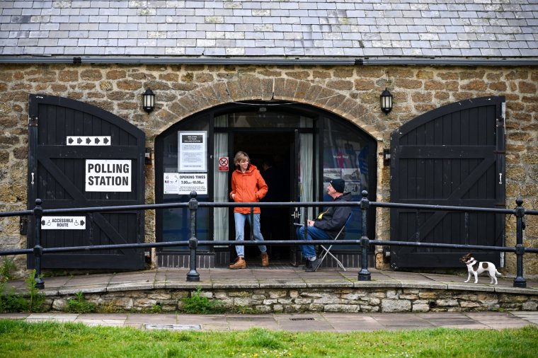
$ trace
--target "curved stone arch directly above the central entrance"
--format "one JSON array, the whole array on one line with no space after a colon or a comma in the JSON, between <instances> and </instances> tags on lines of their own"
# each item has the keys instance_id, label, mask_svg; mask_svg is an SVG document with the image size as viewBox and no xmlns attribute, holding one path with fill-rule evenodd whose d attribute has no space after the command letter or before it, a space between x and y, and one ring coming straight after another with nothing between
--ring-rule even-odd
<instances>
[{"instance_id":1,"label":"curved stone arch directly above the central entrance","mask_svg":"<svg viewBox=\"0 0 538 358\"><path fill-rule=\"evenodd\" d=\"M375 117L367 106L350 98L345 92L309 81L285 78L241 76L232 81L211 83L185 94L172 103L166 112L185 118L217 105L245 100L289 100L312 105L353 122L378 142L383 140L383 133L387 129L384 122ZM167 115L161 115L161 119L165 120L162 130L176 122L167 121L163 117Z\"/></svg>"}]
</instances>

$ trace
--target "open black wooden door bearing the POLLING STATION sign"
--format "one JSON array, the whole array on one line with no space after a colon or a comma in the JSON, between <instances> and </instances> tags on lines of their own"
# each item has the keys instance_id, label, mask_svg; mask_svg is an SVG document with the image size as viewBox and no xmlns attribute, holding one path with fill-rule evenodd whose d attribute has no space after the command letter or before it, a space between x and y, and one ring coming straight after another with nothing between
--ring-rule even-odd
<instances>
[{"instance_id":1,"label":"open black wooden door bearing the POLLING STATION sign","mask_svg":"<svg viewBox=\"0 0 538 358\"><path fill-rule=\"evenodd\" d=\"M69 98L30 95L28 209L144 204L144 132L122 118ZM144 212L62 214L80 226L42 226L44 248L144 242ZM50 225L50 219L43 221ZM84 221L84 223L82 222ZM78 224L78 223L77 223ZM67 225L67 224L66 224ZM35 243L30 217L28 247ZM28 267L33 267L28 255ZM47 253L43 268L139 269L143 250Z\"/></svg>"}]
</instances>

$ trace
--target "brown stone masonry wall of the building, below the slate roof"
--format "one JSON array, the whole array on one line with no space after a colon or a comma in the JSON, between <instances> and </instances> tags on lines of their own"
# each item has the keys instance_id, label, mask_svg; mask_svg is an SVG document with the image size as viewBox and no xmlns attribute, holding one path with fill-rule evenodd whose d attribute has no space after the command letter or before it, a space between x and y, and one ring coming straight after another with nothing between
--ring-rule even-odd
<instances>
[{"instance_id":1,"label":"brown stone masonry wall of the building, below the slate roof","mask_svg":"<svg viewBox=\"0 0 538 358\"><path fill-rule=\"evenodd\" d=\"M28 94L81 100L141 128L147 146L157 135L195 112L242 100L294 100L334 112L389 148L391 132L442 105L482 96L506 97L506 205L538 207L538 69L536 67L309 67L248 65L0 65L0 205L26 209ZM156 93L156 110L141 108L146 88ZM379 94L394 96L389 115ZM147 170L147 202L154 202L154 171ZM389 166L378 161L377 200L389 201ZM154 215L146 216L146 241L154 241ZM525 246L538 247L538 217L527 216ZM389 238L387 209L377 214L377 238ZM506 241L515 245L515 218L506 221ZM0 248L25 248L18 218L0 219ZM25 258L16 259L25 267ZM382 261L377 262L383 268ZM385 266L386 267L386 266ZM515 273L515 255L506 255ZM536 255L525 256L525 275L538 274Z\"/></svg>"}]
</instances>

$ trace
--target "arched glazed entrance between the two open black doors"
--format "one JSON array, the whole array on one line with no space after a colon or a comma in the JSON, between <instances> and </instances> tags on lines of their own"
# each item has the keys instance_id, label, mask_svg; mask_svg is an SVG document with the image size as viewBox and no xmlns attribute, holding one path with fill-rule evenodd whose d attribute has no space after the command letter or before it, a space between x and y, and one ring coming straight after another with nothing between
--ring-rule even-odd
<instances>
[{"instance_id":1,"label":"arched glazed entrance between the two open black doors","mask_svg":"<svg viewBox=\"0 0 538 358\"><path fill-rule=\"evenodd\" d=\"M195 145L185 143L193 136ZM198 148L198 149L196 149ZM361 190L376 197L377 141L343 117L310 105L280 101L252 101L219 105L176 122L155 139L156 202L188 201L196 185L198 200L227 202L233 165L227 170L222 161L231 163L236 151L246 151L262 175L264 162L277 172L275 183L268 183L270 202L328 201L326 185L332 178L346 181L346 192L353 201ZM189 153L189 151L192 151ZM190 164L192 166L190 166ZM176 186L174 180L196 175L198 184ZM183 186L182 186L183 185ZM321 208L277 208L262 212L265 240L294 238L293 220L314 217ZM354 209L348 239L362 235L361 215ZM186 241L189 236L188 210L169 209L156 213L156 241ZM370 237L374 237L374 215L370 215ZM233 214L228 208L198 209L197 237L201 240L234 240ZM246 231L248 232L248 231ZM230 248L201 248L200 267L224 266L234 259ZM256 265L259 250L251 251ZM353 246L339 247L337 258L348 267L359 266L359 251ZM246 253L249 255L248 251ZM231 256L231 257L230 257ZM275 264L299 265L299 252L290 246L270 248ZM160 267L188 267L185 248L166 248L157 252ZM328 266L336 262L327 261Z\"/></svg>"}]
</instances>

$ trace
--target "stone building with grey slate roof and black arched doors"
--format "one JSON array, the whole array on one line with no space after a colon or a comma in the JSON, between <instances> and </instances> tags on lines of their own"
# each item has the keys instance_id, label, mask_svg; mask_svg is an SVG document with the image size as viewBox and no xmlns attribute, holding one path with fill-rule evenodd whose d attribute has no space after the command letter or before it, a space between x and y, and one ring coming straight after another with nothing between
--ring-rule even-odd
<instances>
[{"instance_id":1,"label":"stone building with grey slate roof and black arched doors","mask_svg":"<svg viewBox=\"0 0 538 358\"><path fill-rule=\"evenodd\" d=\"M273 185L280 194L277 202L327 200L328 180L344 178L357 201L367 190L377 202L513 208L521 197L525 208L535 209L537 14L538 5L528 0L1 1L1 206L4 211L32 209L35 198L45 209L187 202L193 188L202 202L227 202L233 168L219 165L219 159L229 162L236 151L245 150L258 167L268 160L279 171L281 183ZM148 88L155 104L146 112L142 94ZM380 108L385 89L392 96L387 113ZM493 112L488 101L496 103L489 105ZM34 110L39 115L33 117ZM76 111L93 119L77 117ZM60 118L60 112L71 113L71 127L68 115ZM70 146L69 138L76 136L109 138L116 145L119 132L102 124L92 127L98 117L113 123L110 127L122 127L122 120L134 132L141 130L142 144L136 145L147 161L139 153L129 159L132 178L135 171L142 173L129 187L135 195L123 193L127 189L88 189L88 160L125 163L122 150L129 142L117 151L101 144ZM416 142L399 142L406 130L415 133ZM191 152L182 144L182 136L189 135L201 144ZM451 149L443 151L443 146ZM411 164L406 151L427 154ZM455 151L465 152L449 155ZM62 158L79 162L70 166ZM491 166L463 190L473 170L489 160ZM84 170L86 176L77 175ZM190 175L200 180L189 181ZM182 178L185 185L173 184ZM69 183L62 187L62 180ZM282 225L265 225L264 235L292 238L291 215L304 218L316 210L282 208L275 219ZM357 220L346 237L356 239L362 226L354 211ZM414 214L371 210L368 236L398 241L405 233L408 239L433 213L406 215ZM430 223L420 240L464 243L461 215ZM130 242L188 238L187 209L123 219L86 216L82 233L44 230L45 245L96 243L93 235L99 243L118 243L110 232ZM537 221L526 218L527 247L537 247ZM467 242L515 245L513 216L471 214L471 223L476 224L469 227ZM115 230L107 231L107 225ZM122 226L134 231L120 232ZM200 210L199 238L232 240L231 231L229 209ZM18 217L0 219L1 249L31 247L30 235L31 227L28 236L21 233ZM229 247L201 251L200 265L226 265L233 258ZM336 253L357 267L356 248ZM71 253L52 258L45 267L143 264L144 253L137 253L134 264L115 266L116 254L100 261ZM382 247L371 253L384 269L459 266L457 252L426 255L414 266L396 261L408 254L396 250L388 257ZM185 257L184 246L153 250L151 265L183 266ZM289 246L275 246L271 257L273 262L300 261ZM494 254L492 260L515 273L514 255ZM17 262L25 267L26 258L19 256ZM525 256L525 270L538 274L533 255Z\"/></svg>"}]
</instances>

